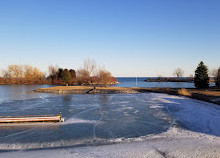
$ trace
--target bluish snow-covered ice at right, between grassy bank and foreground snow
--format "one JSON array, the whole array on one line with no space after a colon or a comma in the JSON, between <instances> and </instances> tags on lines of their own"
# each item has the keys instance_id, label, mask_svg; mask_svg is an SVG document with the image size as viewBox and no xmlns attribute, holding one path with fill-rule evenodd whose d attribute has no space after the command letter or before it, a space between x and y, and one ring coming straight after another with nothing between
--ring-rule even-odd
<instances>
[{"instance_id":1,"label":"bluish snow-covered ice at right, between grassy bank and foreground snow","mask_svg":"<svg viewBox=\"0 0 220 158\"><path fill-rule=\"evenodd\" d=\"M220 136L220 106L187 97L153 95L157 95L154 100L160 101L169 114L185 128Z\"/></svg>"}]
</instances>

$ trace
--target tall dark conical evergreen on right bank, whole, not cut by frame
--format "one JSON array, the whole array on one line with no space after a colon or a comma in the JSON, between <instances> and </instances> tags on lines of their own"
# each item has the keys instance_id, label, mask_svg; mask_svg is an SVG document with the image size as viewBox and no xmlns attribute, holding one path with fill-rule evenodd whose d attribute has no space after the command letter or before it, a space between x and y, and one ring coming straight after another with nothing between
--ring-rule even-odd
<instances>
[{"instance_id":1,"label":"tall dark conical evergreen on right bank, whole, not cut by frame","mask_svg":"<svg viewBox=\"0 0 220 158\"><path fill-rule=\"evenodd\" d=\"M196 88L209 87L208 68L202 61L195 71L194 84Z\"/></svg>"}]
</instances>

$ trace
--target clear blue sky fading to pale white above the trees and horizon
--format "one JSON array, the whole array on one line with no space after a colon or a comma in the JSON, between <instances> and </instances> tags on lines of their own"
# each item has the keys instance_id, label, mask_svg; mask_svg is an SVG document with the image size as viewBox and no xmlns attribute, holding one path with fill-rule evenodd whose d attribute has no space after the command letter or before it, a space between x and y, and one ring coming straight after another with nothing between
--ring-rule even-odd
<instances>
[{"instance_id":1,"label":"clear blue sky fading to pale white above the trees and horizon","mask_svg":"<svg viewBox=\"0 0 220 158\"><path fill-rule=\"evenodd\" d=\"M0 69L96 59L114 76L220 66L220 0L0 0Z\"/></svg>"}]
</instances>

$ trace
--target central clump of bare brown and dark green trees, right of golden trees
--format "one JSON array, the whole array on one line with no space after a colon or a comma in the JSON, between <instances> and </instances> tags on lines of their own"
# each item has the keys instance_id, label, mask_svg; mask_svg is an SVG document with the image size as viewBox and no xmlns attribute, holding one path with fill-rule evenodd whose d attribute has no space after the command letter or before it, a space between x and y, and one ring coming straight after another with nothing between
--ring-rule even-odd
<instances>
[{"instance_id":1,"label":"central clump of bare brown and dark green trees, right of golden trees","mask_svg":"<svg viewBox=\"0 0 220 158\"><path fill-rule=\"evenodd\" d=\"M107 70L96 66L95 60L86 59L82 67L75 71L73 69L62 69L56 66L49 66L49 77L54 85L104 85L117 83Z\"/></svg>"}]
</instances>

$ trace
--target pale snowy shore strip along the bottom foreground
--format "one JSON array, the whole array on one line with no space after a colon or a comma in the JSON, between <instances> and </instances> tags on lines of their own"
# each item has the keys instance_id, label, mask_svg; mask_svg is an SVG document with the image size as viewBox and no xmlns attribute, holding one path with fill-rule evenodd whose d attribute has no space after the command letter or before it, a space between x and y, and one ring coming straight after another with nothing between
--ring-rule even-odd
<instances>
[{"instance_id":1,"label":"pale snowy shore strip along the bottom foreground","mask_svg":"<svg viewBox=\"0 0 220 158\"><path fill-rule=\"evenodd\" d=\"M220 138L173 127L167 132L139 140L88 146L47 150L2 152L0 157L62 157L62 158L218 158Z\"/></svg>"}]
</instances>

